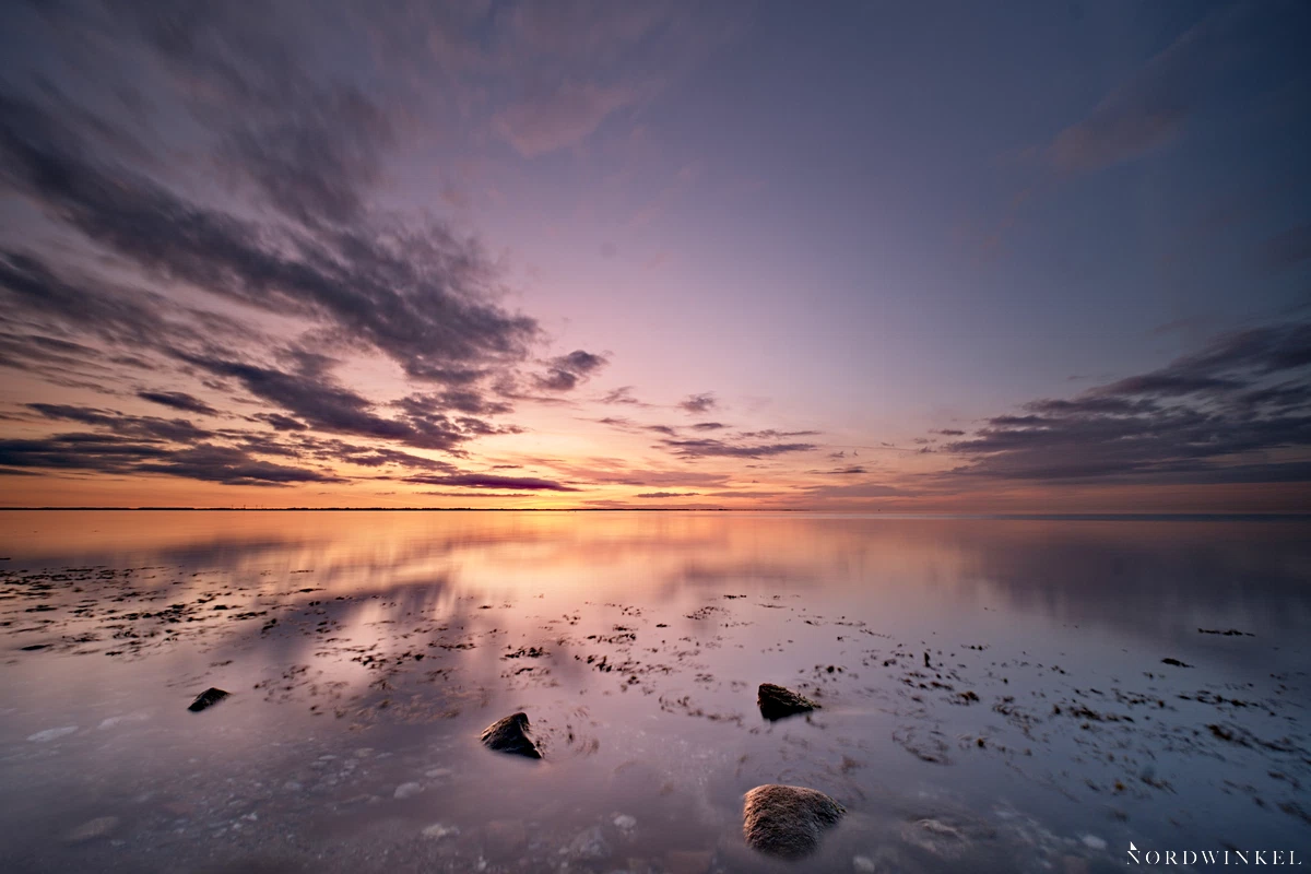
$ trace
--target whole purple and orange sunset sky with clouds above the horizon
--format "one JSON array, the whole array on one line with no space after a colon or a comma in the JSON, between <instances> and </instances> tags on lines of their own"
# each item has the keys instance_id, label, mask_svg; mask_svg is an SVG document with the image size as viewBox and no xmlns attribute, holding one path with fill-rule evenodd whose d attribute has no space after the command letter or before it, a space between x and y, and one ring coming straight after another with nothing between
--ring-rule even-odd
<instances>
[{"instance_id":1,"label":"whole purple and orange sunset sky with clouds above the horizon","mask_svg":"<svg viewBox=\"0 0 1311 874\"><path fill-rule=\"evenodd\" d=\"M1311 511L1311 5L0 7L0 506Z\"/></svg>"}]
</instances>

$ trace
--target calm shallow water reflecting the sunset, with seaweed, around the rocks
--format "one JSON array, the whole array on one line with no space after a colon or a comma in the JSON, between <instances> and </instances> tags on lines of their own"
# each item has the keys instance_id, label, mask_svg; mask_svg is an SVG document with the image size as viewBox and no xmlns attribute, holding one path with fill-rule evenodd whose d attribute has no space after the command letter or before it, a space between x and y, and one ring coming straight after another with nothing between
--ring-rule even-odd
<instances>
[{"instance_id":1,"label":"calm shallow water reflecting the sunset, with seaweed, around the rocks","mask_svg":"<svg viewBox=\"0 0 1311 874\"><path fill-rule=\"evenodd\" d=\"M4 871L1311 857L1307 522L5 511L0 557ZM540 763L477 742L517 710ZM847 807L804 862L742 844L767 782Z\"/></svg>"}]
</instances>

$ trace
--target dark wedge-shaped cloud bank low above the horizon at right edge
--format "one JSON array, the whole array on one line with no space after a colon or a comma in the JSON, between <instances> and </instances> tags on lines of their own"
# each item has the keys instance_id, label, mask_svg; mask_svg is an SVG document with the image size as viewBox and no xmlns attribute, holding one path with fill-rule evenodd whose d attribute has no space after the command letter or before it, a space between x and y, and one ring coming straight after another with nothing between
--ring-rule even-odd
<instances>
[{"instance_id":1,"label":"dark wedge-shaped cloud bank low above the horizon at right edge","mask_svg":"<svg viewBox=\"0 0 1311 874\"><path fill-rule=\"evenodd\" d=\"M1311 476L1311 322L1222 334L1163 368L1037 400L943 447L949 477L1143 484Z\"/></svg>"}]
</instances>

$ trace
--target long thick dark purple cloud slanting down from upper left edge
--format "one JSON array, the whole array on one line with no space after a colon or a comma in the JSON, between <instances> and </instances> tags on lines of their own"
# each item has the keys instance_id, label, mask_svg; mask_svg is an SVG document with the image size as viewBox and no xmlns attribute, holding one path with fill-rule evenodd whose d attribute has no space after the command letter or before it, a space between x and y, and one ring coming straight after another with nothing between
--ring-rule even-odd
<instances>
[{"instance_id":1,"label":"long thick dark purple cloud slanting down from upper left edge","mask_svg":"<svg viewBox=\"0 0 1311 874\"><path fill-rule=\"evenodd\" d=\"M490 303L497 270L481 248L439 223L258 224L92 153L43 107L0 96L4 181L155 278L317 321L414 379L471 381L539 337L534 320Z\"/></svg>"}]
</instances>

